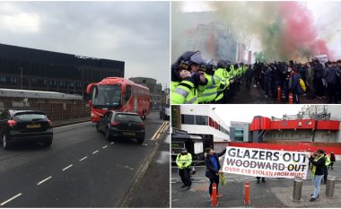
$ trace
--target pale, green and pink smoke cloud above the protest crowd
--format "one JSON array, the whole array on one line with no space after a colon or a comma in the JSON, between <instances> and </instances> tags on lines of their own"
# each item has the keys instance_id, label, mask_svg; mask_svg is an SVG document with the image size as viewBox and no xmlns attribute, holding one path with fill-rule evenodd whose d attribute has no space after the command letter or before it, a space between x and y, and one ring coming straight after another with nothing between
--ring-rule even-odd
<instances>
[{"instance_id":1,"label":"pale, green and pink smoke cloud above the protest crowd","mask_svg":"<svg viewBox=\"0 0 341 209\"><path fill-rule=\"evenodd\" d=\"M332 56L319 39L313 16L300 2L211 2L233 37L248 42L259 39L262 51L272 60L300 60L315 55Z\"/></svg>"}]
</instances>

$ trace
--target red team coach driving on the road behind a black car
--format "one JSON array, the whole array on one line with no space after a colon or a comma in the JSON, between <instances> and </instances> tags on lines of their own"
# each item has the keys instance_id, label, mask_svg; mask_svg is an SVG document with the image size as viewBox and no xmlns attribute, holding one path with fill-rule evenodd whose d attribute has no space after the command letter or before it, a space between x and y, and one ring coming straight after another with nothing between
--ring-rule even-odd
<instances>
[{"instance_id":1,"label":"red team coach driving on the road behind a black car","mask_svg":"<svg viewBox=\"0 0 341 209\"><path fill-rule=\"evenodd\" d=\"M90 95L91 121L98 122L108 110L136 112L145 118L151 112L149 89L125 78L108 77L86 87Z\"/></svg>"}]
</instances>

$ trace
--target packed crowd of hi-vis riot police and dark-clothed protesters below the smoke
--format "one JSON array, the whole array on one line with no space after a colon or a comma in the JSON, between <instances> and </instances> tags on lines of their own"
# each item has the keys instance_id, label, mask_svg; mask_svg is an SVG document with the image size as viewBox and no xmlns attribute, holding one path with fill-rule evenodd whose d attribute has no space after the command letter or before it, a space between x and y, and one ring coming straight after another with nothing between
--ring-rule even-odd
<instances>
[{"instance_id":1,"label":"packed crowd of hi-vis riot police and dark-clothed protesters below the smoke","mask_svg":"<svg viewBox=\"0 0 341 209\"><path fill-rule=\"evenodd\" d=\"M240 86L261 88L266 98L300 103L302 95L338 103L341 100L341 60L302 64L205 60L199 51L187 51L171 65L171 103L229 103ZM244 87L243 87L244 88ZM243 92L245 93L245 91Z\"/></svg>"}]
</instances>

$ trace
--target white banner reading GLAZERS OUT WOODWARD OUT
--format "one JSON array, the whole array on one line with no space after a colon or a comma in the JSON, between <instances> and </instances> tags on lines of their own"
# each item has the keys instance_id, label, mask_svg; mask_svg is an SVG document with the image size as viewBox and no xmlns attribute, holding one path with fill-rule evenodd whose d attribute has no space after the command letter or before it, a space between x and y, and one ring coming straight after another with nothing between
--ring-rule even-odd
<instances>
[{"instance_id":1,"label":"white banner reading GLAZERS OUT WOODWARD OUT","mask_svg":"<svg viewBox=\"0 0 341 209\"><path fill-rule=\"evenodd\" d=\"M307 179L308 152L227 146L223 172L255 177Z\"/></svg>"}]
</instances>

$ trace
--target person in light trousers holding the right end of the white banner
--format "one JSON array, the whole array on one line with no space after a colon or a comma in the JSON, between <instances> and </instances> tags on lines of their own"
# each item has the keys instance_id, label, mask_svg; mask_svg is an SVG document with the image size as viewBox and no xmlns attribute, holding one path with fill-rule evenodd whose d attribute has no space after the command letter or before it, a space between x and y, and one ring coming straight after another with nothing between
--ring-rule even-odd
<instances>
[{"instance_id":1,"label":"person in light trousers holding the right end of the white banner","mask_svg":"<svg viewBox=\"0 0 341 209\"><path fill-rule=\"evenodd\" d=\"M314 193L311 195L310 202L314 202L319 197L319 187L321 185L321 180L323 179L326 158L324 157L323 150L318 150L316 158L312 157L311 152L307 154L307 158L312 164L311 175L313 176L312 182L315 189Z\"/></svg>"}]
</instances>

